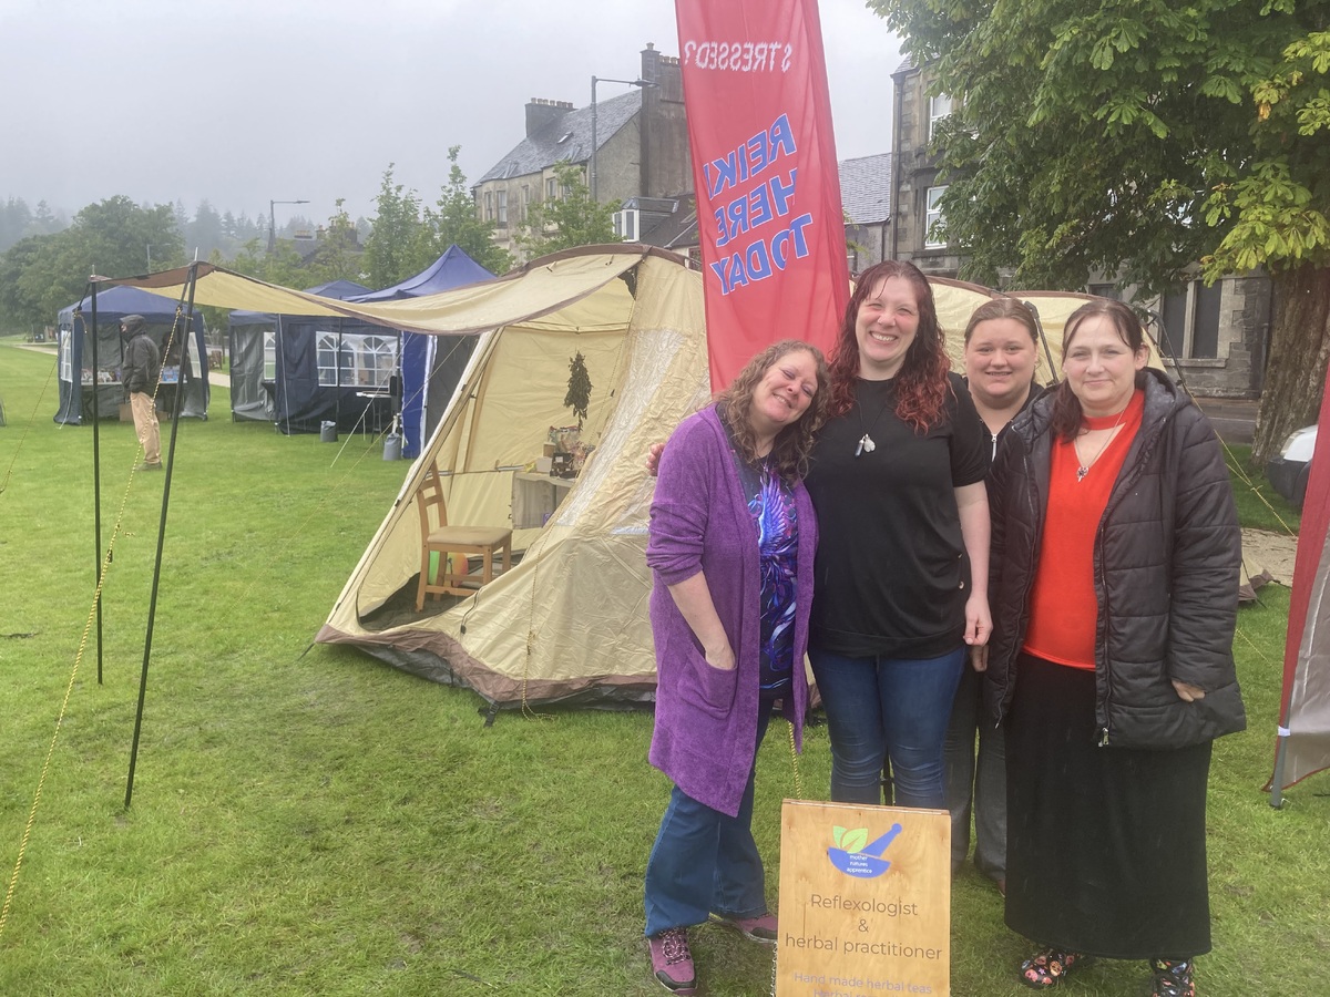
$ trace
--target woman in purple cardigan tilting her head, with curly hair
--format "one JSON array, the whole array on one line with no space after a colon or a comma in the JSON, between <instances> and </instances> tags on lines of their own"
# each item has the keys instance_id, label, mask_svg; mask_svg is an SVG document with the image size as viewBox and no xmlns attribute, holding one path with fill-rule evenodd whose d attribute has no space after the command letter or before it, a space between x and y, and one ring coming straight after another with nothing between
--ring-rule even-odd
<instances>
[{"instance_id":1,"label":"woman in purple cardigan tilting her head, with curly hair","mask_svg":"<svg viewBox=\"0 0 1330 997\"><path fill-rule=\"evenodd\" d=\"M650 762L673 782L646 864L652 972L696 993L688 928L775 942L753 841L753 775L773 701L801 740L817 518L801 483L827 401L822 354L758 354L660 460L646 562L656 576Z\"/></svg>"}]
</instances>

